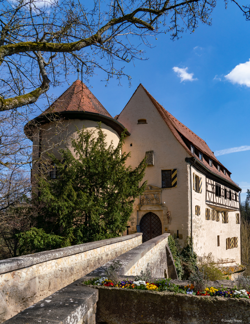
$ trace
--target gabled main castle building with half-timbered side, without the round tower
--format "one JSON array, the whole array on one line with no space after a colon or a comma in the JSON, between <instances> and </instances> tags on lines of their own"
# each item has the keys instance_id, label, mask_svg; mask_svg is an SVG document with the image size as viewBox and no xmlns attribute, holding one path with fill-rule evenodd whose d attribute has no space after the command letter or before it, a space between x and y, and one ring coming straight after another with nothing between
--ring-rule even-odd
<instances>
[{"instance_id":1,"label":"gabled main castle building with half-timbered side, without the round tower","mask_svg":"<svg viewBox=\"0 0 250 324\"><path fill-rule=\"evenodd\" d=\"M208 145L165 110L142 86L115 117L131 133L124 151L136 167L146 156L148 186L134 205L129 233L143 240L173 235L179 249L191 237L195 252L241 263L241 189ZM231 264L232 264L231 263Z\"/></svg>"}]
</instances>

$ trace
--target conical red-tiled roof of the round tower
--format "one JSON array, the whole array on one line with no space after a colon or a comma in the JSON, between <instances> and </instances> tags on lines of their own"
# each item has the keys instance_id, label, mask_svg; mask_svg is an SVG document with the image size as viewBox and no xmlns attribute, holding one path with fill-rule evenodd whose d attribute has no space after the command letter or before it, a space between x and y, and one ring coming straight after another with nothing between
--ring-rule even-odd
<instances>
[{"instance_id":1,"label":"conical red-tiled roof of the round tower","mask_svg":"<svg viewBox=\"0 0 250 324\"><path fill-rule=\"evenodd\" d=\"M42 115L67 111L95 112L113 118L81 80L76 80Z\"/></svg>"}]
</instances>

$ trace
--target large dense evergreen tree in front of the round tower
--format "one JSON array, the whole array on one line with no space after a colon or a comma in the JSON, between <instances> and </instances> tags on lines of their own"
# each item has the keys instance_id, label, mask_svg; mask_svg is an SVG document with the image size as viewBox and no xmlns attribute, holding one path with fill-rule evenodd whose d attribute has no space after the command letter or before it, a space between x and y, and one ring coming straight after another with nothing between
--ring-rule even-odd
<instances>
[{"instance_id":1,"label":"large dense evergreen tree in front of the round tower","mask_svg":"<svg viewBox=\"0 0 250 324\"><path fill-rule=\"evenodd\" d=\"M97 131L98 136L95 138ZM61 149L61 164L53 154L56 179L37 177L40 195L33 202L38 211L35 227L19 234L20 243L35 251L55 249L117 237L126 229L141 186L145 160L134 170L125 167L130 154L121 154L125 133L116 148L107 146L101 129L77 131L74 154Z\"/></svg>"}]
</instances>

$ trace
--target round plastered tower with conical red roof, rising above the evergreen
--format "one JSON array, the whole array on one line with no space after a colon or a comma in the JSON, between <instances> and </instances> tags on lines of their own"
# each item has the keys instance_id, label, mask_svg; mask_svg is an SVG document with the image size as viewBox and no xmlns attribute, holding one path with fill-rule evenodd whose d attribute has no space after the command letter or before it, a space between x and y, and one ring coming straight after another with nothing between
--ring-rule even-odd
<instances>
[{"instance_id":1,"label":"round plastered tower with conical red roof, rising above the evergreen","mask_svg":"<svg viewBox=\"0 0 250 324\"><path fill-rule=\"evenodd\" d=\"M47 152L53 152L60 159L58 149L71 149L71 139L77 136L77 129L84 126L93 130L100 121L107 134L107 145L113 141L116 146L124 126L109 114L84 83L76 80L41 115L24 127L26 136L33 141L32 169L37 169L42 160L48 160Z\"/></svg>"}]
</instances>

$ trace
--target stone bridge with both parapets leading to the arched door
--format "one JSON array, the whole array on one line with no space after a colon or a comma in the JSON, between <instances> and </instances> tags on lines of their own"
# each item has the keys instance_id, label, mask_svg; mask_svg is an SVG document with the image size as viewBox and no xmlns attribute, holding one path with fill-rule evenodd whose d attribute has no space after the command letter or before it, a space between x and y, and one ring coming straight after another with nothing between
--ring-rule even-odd
<instances>
[{"instance_id":1,"label":"stone bridge with both parapets leading to the arched door","mask_svg":"<svg viewBox=\"0 0 250 324\"><path fill-rule=\"evenodd\" d=\"M1 260L0 323L8 318L14 320L19 312L83 276L104 274L112 260L122 263L121 276L137 275L149 263L152 277L165 274L177 279L167 244L169 235L142 244L142 233L135 233Z\"/></svg>"}]
</instances>

